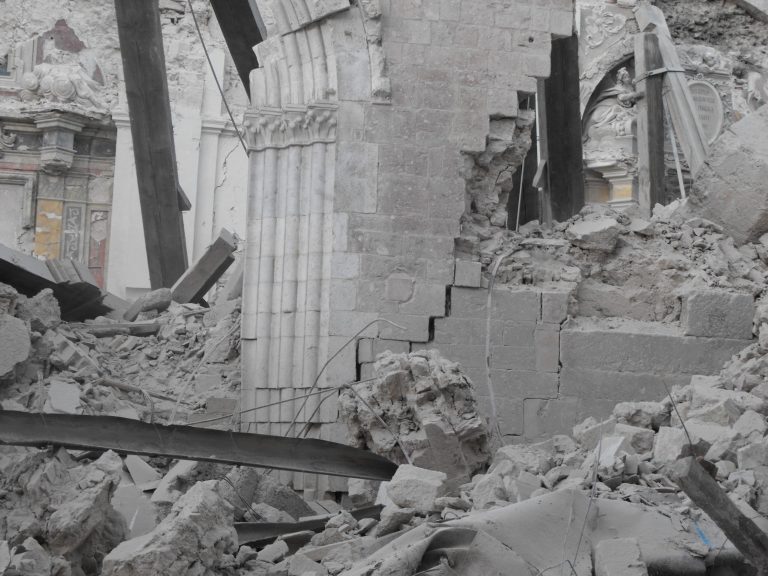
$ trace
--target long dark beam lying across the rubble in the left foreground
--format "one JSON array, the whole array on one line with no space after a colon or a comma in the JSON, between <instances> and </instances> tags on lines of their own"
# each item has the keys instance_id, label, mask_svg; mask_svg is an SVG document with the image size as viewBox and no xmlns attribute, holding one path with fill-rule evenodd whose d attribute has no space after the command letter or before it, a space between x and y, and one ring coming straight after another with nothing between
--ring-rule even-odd
<instances>
[{"instance_id":1,"label":"long dark beam lying across the rubble in the left foreground","mask_svg":"<svg viewBox=\"0 0 768 576\"><path fill-rule=\"evenodd\" d=\"M390 480L397 470L383 456L326 440L164 426L114 416L0 411L0 444L114 450L370 480Z\"/></svg>"}]
</instances>

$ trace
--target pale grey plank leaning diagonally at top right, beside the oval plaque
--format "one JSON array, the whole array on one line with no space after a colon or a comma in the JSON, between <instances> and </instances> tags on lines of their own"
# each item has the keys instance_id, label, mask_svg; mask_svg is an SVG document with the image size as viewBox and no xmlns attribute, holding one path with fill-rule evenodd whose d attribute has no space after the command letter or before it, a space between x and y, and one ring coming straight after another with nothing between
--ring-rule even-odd
<instances>
[{"instance_id":1,"label":"pale grey plank leaning diagonally at top right, beside the oval plaque","mask_svg":"<svg viewBox=\"0 0 768 576\"><path fill-rule=\"evenodd\" d=\"M664 104L672 117L691 174L695 176L709 155L709 142L701 126L664 13L657 6L642 4L635 15L641 31L656 32L658 35L663 67L669 71L664 77Z\"/></svg>"}]
</instances>

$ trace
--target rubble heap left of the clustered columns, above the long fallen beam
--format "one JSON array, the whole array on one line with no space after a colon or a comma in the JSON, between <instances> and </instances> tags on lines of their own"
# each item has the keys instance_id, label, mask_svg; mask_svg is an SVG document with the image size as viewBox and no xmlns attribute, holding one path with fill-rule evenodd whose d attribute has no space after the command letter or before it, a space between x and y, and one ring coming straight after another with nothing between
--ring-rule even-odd
<instances>
[{"instance_id":1,"label":"rubble heap left of the clustered columns, above the long fallen beam","mask_svg":"<svg viewBox=\"0 0 768 576\"><path fill-rule=\"evenodd\" d=\"M25 298L0 286L2 406L168 422L178 400L175 422L183 423L221 398L234 412L239 300L204 308L172 302L165 292L139 299L134 322L62 323L50 290Z\"/></svg>"}]
</instances>

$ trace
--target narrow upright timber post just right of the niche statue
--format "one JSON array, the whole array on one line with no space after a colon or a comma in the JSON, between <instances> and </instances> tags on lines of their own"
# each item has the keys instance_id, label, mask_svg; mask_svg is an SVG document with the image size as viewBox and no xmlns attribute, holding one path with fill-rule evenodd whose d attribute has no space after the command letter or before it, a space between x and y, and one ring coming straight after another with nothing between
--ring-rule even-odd
<instances>
[{"instance_id":1,"label":"narrow upright timber post just right of the niche statue","mask_svg":"<svg viewBox=\"0 0 768 576\"><path fill-rule=\"evenodd\" d=\"M637 101L638 203L650 214L664 197L664 75L659 38L655 32L635 36L635 88L643 97Z\"/></svg>"}]
</instances>

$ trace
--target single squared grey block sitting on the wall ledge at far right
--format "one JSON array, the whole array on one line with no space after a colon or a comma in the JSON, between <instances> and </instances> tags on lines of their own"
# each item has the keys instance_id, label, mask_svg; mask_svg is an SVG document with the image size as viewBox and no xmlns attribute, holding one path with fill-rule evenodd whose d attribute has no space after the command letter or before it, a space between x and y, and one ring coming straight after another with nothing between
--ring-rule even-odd
<instances>
[{"instance_id":1,"label":"single squared grey block sitting on the wall ledge at far right","mask_svg":"<svg viewBox=\"0 0 768 576\"><path fill-rule=\"evenodd\" d=\"M754 315L750 294L703 290L683 298L680 324L687 336L751 340Z\"/></svg>"}]
</instances>

